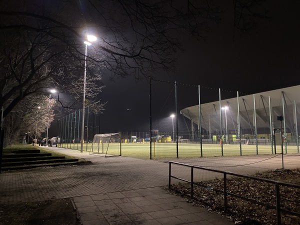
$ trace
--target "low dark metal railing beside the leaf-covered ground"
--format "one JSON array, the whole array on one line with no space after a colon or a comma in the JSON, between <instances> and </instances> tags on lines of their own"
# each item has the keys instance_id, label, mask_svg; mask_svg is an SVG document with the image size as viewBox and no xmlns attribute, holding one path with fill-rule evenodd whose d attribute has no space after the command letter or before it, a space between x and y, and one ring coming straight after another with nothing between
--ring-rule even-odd
<instances>
[{"instance_id":1,"label":"low dark metal railing beside the leaf-covered ground","mask_svg":"<svg viewBox=\"0 0 300 225\"><path fill-rule=\"evenodd\" d=\"M179 178L179 177L171 175L171 164L177 164L177 165L190 167L190 180L186 180L186 179ZM179 180L190 183L190 197L191 198L193 198L193 185L197 185L197 186L201 186L201 187L205 187L205 188L211 188L209 186L194 182L194 180L193 180L193 169L194 168L208 170L208 171L212 171L212 172L223 173L223 175L224 175L224 183L223 183L224 190L219 190L219 189L215 189L215 188L213 188L213 190L216 191L216 192L223 193L223 195L224 195L224 211L227 210L227 196L229 195L229 196L237 197L237 198L240 198L240 199L243 199L243 200L255 203L255 204L265 206L265 207L270 208L270 209L275 209L278 225L281 224L281 212L285 213L285 214L290 214L290 215L295 215L295 216L300 217L299 213L289 211L289 210L285 210L285 209L282 209L280 207L280 188L279 188L279 186L281 185L281 186L288 186L288 187L293 187L293 188L300 189L300 185L293 184L293 183L279 182L279 181L276 181L276 180L265 179L265 178L260 178L260 177L256 177L256 176L243 175L243 174L238 174L238 173L234 173L234 172L221 171L221 170L217 170L217 169L211 169L211 168L206 168L206 167L201 167L201 166L196 166L196 165L189 165L189 164L169 161L168 188L171 189L171 178L179 179ZM260 202L260 201L256 201L256 200L244 197L244 196L240 196L238 194L227 192L227 174L232 175L232 176L244 177L244 178L248 178L248 179L253 179L253 180L258 180L258 181L263 181L263 182L274 184L275 188L276 188L276 205L269 205L269 204L266 204L266 203L263 203L263 202Z\"/></svg>"}]
</instances>

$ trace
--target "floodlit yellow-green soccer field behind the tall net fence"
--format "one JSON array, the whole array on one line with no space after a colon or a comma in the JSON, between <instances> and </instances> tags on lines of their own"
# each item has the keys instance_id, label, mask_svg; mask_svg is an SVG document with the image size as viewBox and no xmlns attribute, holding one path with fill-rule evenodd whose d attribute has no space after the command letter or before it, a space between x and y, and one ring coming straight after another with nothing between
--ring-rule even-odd
<instances>
[{"instance_id":1,"label":"floodlit yellow-green soccer field behind the tall net fence","mask_svg":"<svg viewBox=\"0 0 300 225\"><path fill-rule=\"evenodd\" d=\"M84 143L83 151L88 151L90 153L107 151L107 155L119 155L119 143L103 143L101 147L93 147L91 152L91 143ZM62 147L68 147L76 150L80 150L80 144L63 144ZM287 153L297 153L298 148L296 145L287 145ZM281 145L276 145L276 153L281 152ZM271 154L271 145L258 145L258 154ZM273 146L273 153L274 146ZM285 153L285 145L283 145L283 153ZM256 145L241 145L241 155L254 155L256 154ZM143 159L150 158L150 143L122 143L121 144L121 155L128 157L137 157ZM151 158L161 159L161 158L176 158L176 143L152 143L151 147ZM223 156L237 156L240 155L240 148L238 144L223 144ZM178 143L178 157L200 157L201 149L199 143ZM212 157L212 156L222 156L222 149L219 144L202 144L202 156Z\"/></svg>"}]
</instances>

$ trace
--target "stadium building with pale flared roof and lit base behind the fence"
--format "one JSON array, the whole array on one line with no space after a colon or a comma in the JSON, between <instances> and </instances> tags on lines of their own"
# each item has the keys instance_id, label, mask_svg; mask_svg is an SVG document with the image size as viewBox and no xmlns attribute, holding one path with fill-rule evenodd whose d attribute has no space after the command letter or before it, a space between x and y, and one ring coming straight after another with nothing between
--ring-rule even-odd
<instances>
[{"instance_id":1,"label":"stadium building with pale flared roof and lit base behind the fence","mask_svg":"<svg viewBox=\"0 0 300 225\"><path fill-rule=\"evenodd\" d=\"M180 114L190 122L192 141L267 144L272 149L282 141L285 148L296 145L298 151L299 91L300 85L245 96L237 93L235 98L183 108Z\"/></svg>"}]
</instances>

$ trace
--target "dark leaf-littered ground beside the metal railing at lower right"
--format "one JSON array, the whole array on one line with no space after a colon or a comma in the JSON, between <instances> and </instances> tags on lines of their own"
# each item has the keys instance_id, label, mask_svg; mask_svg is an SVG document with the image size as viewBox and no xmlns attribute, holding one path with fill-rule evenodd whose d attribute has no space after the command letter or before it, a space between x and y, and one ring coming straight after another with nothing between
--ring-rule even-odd
<instances>
[{"instance_id":1,"label":"dark leaf-littered ground beside the metal railing at lower right","mask_svg":"<svg viewBox=\"0 0 300 225\"><path fill-rule=\"evenodd\" d=\"M256 173L254 176L300 184L300 168L291 170L270 170L267 172ZM214 190L223 190L223 179L215 178L199 183L208 186L208 188L194 185L193 200L190 200L189 183L172 184L172 189L169 191L173 194L185 197L188 202L192 202L195 205L205 207L207 210L225 215L235 224L277 224L276 211L274 209L268 209L264 206L231 196L227 196L228 210L225 213L223 211L223 194ZM168 188L166 187L166 189ZM240 177L230 177L227 179L227 192L273 206L275 206L276 203L275 185L266 182ZM300 189L280 186L280 194L281 208L300 213L300 204L298 203L300 199ZM300 224L300 217L281 213L281 224Z\"/></svg>"}]
</instances>

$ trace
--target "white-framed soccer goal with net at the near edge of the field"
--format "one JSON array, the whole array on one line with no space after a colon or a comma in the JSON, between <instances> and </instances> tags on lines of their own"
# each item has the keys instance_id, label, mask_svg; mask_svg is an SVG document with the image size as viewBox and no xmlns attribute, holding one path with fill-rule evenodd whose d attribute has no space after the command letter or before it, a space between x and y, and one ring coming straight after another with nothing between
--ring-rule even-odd
<instances>
[{"instance_id":1,"label":"white-framed soccer goal with net at the near edge of the field","mask_svg":"<svg viewBox=\"0 0 300 225\"><path fill-rule=\"evenodd\" d=\"M120 156L121 155L121 133L95 134L92 140L90 154L100 156Z\"/></svg>"}]
</instances>

